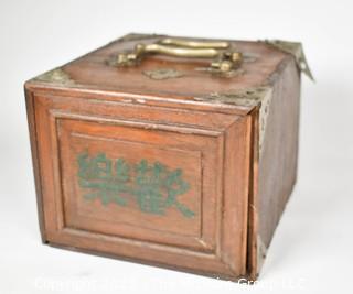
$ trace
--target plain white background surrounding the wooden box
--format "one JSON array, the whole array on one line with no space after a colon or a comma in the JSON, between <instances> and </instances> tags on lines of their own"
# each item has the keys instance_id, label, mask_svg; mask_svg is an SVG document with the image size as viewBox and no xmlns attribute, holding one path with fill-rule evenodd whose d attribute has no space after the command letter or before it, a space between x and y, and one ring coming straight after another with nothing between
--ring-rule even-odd
<instances>
[{"instance_id":1,"label":"plain white background surrounding the wooden box","mask_svg":"<svg viewBox=\"0 0 353 294\"><path fill-rule=\"evenodd\" d=\"M353 293L352 1L0 0L0 293ZM23 83L129 32L301 41L299 179L257 286L42 246Z\"/></svg>"}]
</instances>

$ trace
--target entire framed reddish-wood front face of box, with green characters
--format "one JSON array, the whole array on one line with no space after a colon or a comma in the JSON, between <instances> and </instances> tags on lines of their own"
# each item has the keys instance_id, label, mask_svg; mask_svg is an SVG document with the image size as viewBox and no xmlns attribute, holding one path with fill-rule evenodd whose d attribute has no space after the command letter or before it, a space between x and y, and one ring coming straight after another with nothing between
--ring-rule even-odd
<instances>
[{"instance_id":1,"label":"entire framed reddish-wood front face of box, with green characters","mask_svg":"<svg viewBox=\"0 0 353 294\"><path fill-rule=\"evenodd\" d=\"M46 241L245 273L249 117L43 95L33 108Z\"/></svg>"}]
</instances>

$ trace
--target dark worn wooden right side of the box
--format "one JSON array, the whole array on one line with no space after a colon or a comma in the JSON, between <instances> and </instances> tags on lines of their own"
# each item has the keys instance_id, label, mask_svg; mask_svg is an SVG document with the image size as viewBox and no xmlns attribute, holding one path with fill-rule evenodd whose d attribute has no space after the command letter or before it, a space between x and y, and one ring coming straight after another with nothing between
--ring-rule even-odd
<instances>
[{"instance_id":1,"label":"dark worn wooden right side of the box","mask_svg":"<svg viewBox=\"0 0 353 294\"><path fill-rule=\"evenodd\" d=\"M266 250L296 184L299 101L300 75L291 59L285 63L278 79L274 83L263 153L258 156L255 152L253 161L248 260L249 276L253 280L259 273ZM254 111L255 121L258 120L257 115L258 112ZM255 126L258 123L255 122ZM257 144L254 142L255 149Z\"/></svg>"}]
</instances>

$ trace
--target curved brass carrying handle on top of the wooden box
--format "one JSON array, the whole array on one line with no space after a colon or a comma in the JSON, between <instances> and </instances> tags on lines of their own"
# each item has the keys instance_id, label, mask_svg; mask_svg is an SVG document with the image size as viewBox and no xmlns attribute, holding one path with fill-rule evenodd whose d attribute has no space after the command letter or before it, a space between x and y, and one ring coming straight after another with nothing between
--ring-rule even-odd
<instances>
[{"instance_id":1,"label":"curved brass carrying handle on top of the wooden box","mask_svg":"<svg viewBox=\"0 0 353 294\"><path fill-rule=\"evenodd\" d=\"M137 65L145 56L162 54L175 57L213 58L210 70L227 73L239 67L242 53L229 50L228 42L200 42L167 37L153 44L137 44L132 52L120 53L117 66Z\"/></svg>"}]
</instances>

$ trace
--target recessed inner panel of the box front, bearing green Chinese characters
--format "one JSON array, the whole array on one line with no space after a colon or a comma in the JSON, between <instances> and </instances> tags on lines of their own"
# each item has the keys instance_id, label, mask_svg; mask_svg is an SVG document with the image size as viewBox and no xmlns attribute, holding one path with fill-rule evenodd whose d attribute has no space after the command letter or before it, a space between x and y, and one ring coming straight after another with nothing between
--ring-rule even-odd
<instances>
[{"instance_id":1,"label":"recessed inner panel of the box front, bearing green Chinese characters","mask_svg":"<svg viewBox=\"0 0 353 294\"><path fill-rule=\"evenodd\" d=\"M65 227L214 247L215 231L203 226L203 213L215 219L217 194L203 177L216 163L210 153L215 138L66 119L57 126Z\"/></svg>"}]
</instances>

